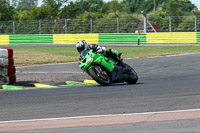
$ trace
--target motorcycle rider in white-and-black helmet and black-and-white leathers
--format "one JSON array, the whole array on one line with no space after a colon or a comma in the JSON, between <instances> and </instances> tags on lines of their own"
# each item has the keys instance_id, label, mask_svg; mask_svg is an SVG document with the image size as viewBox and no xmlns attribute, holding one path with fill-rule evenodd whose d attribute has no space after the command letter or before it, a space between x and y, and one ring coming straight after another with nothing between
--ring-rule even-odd
<instances>
[{"instance_id":1,"label":"motorcycle rider in white-and-black helmet and black-and-white leathers","mask_svg":"<svg viewBox=\"0 0 200 133\"><path fill-rule=\"evenodd\" d=\"M105 54L106 57L111 57L112 59L116 60L123 67L124 71L130 71L131 70L131 68L120 59L121 53L119 53L116 50L113 50L113 49L106 50L105 47L101 47L97 44L88 45L85 40L78 41L77 44L76 44L76 48L77 48L77 51L80 54L84 50L93 49L93 51L96 52L96 53ZM81 59L81 57L79 57L79 59Z\"/></svg>"}]
</instances>

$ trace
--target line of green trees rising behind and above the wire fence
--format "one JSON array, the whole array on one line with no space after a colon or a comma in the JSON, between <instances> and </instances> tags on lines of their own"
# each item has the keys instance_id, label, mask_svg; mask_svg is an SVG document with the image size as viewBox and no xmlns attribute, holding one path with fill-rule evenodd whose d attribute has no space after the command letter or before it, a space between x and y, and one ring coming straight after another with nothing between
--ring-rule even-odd
<instances>
[{"instance_id":1,"label":"line of green trees rising behind and above the wire fence","mask_svg":"<svg viewBox=\"0 0 200 133\"><path fill-rule=\"evenodd\" d=\"M42 5L38 6L38 0L0 0L0 21L67 18L74 19L71 23L78 25L80 19L88 21L90 17L94 19L116 18L116 14L118 14L120 18L132 18L131 21L135 21L135 25L139 26L141 20L137 17L141 15L141 11L144 11L148 17L151 17L152 21L162 23L160 28L164 29L168 26L167 12L170 12L172 16L194 16L193 11L200 15L200 11L190 0L156 0L155 13L153 11L154 0L112 0L110 2L103 0L43 0L42 2ZM98 25L105 23L105 21L107 20L95 22L97 26L94 30L98 31L100 27ZM178 21L179 24L183 22L183 20ZM188 18L184 21L187 23L194 20ZM109 25L112 23L114 24L116 21L111 21ZM127 27L132 25L128 24L127 21L120 23L124 29L128 29ZM180 26L187 27L184 24L180 24Z\"/></svg>"}]
</instances>

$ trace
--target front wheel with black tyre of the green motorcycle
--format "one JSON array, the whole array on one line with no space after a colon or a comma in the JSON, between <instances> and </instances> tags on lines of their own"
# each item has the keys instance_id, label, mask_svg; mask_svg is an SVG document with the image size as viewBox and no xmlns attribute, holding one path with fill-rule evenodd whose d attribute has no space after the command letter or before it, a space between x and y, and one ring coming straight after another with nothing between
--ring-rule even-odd
<instances>
[{"instance_id":1,"label":"front wheel with black tyre of the green motorcycle","mask_svg":"<svg viewBox=\"0 0 200 133\"><path fill-rule=\"evenodd\" d=\"M99 72L99 70L96 70L97 67L99 70L101 70L101 72ZM106 71L106 69L104 69L101 66L92 67L89 70L89 74L100 85L108 86L111 84L111 80L110 80L110 76L108 75L108 72Z\"/></svg>"}]
</instances>

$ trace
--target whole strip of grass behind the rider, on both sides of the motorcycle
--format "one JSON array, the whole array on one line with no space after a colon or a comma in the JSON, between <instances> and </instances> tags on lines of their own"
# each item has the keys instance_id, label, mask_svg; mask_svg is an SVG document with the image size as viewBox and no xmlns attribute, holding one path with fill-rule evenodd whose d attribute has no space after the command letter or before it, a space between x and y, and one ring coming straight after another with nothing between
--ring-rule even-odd
<instances>
[{"instance_id":1,"label":"whole strip of grass behind the rider, on both sides of the motorcycle","mask_svg":"<svg viewBox=\"0 0 200 133\"><path fill-rule=\"evenodd\" d=\"M16 66L78 61L75 47L12 47ZM123 51L122 58L200 53L200 46L106 47Z\"/></svg>"}]
</instances>

